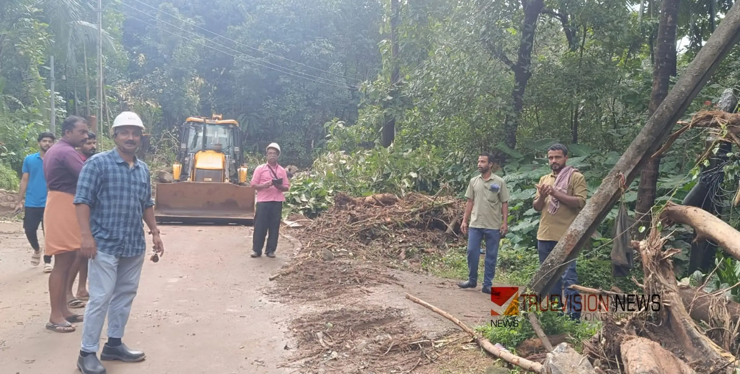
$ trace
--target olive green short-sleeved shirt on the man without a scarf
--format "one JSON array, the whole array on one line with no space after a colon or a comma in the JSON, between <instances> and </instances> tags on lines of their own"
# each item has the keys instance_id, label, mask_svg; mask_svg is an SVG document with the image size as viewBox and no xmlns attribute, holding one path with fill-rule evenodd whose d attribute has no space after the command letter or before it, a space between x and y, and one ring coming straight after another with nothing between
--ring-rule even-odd
<instances>
[{"instance_id":1,"label":"olive green short-sleeved shirt on the man without a scarf","mask_svg":"<svg viewBox=\"0 0 740 374\"><path fill-rule=\"evenodd\" d=\"M491 186L498 186L491 191ZM469 227L500 230L502 222L501 204L508 203L509 193L503 178L491 173L487 179L476 176L470 180L465 198L473 200Z\"/></svg>"}]
</instances>

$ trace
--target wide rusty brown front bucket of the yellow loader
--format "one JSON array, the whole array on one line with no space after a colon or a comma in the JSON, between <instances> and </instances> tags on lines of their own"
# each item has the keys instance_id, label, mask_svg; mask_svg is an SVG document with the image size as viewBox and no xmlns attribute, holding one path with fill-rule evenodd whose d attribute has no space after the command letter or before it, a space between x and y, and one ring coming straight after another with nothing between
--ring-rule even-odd
<instances>
[{"instance_id":1,"label":"wide rusty brown front bucket of the yellow loader","mask_svg":"<svg viewBox=\"0 0 740 374\"><path fill-rule=\"evenodd\" d=\"M157 222L252 224L255 190L232 183L158 183L154 214Z\"/></svg>"}]
</instances>

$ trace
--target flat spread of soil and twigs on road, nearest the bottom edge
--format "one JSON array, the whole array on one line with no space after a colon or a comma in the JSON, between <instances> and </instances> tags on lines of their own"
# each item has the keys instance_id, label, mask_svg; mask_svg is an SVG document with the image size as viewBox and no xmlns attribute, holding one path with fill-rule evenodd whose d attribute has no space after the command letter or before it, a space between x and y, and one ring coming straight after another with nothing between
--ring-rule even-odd
<instances>
[{"instance_id":1,"label":"flat spread of soil and twigs on road, nearest the bottom edge","mask_svg":"<svg viewBox=\"0 0 740 374\"><path fill-rule=\"evenodd\" d=\"M430 337L405 310L377 305L309 313L290 329L302 350L282 366L300 361L300 373L411 373L469 340L460 333Z\"/></svg>"}]
</instances>

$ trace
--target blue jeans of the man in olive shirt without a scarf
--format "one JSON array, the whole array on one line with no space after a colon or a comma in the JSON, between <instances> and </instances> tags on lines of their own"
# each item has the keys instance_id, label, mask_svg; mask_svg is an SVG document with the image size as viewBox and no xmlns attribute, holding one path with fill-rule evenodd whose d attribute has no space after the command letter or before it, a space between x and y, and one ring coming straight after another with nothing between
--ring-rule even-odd
<instances>
[{"instance_id":1,"label":"blue jeans of the man in olive shirt without a scarf","mask_svg":"<svg viewBox=\"0 0 740 374\"><path fill-rule=\"evenodd\" d=\"M480 242L485 236L485 261L483 287L491 287L496 276L496 260L499 256L501 232L494 229L468 228L468 281L478 284L478 261L480 261Z\"/></svg>"}]
</instances>

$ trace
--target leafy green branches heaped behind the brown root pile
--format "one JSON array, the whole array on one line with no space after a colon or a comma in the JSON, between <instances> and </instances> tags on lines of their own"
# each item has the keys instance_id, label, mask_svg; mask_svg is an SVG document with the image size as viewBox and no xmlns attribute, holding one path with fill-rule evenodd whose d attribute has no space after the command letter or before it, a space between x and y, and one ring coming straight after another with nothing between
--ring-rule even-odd
<instances>
[{"instance_id":1,"label":"leafy green branches heaped behind the brown root pile","mask_svg":"<svg viewBox=\"0 0 740 374\"><path fill-rule=\"evenodd\" d=\"M291 181L291 189L286 193L289 210L315 216L329 207L337 192L352 196L373 193L405 196L411 191L436 193L446 184L462 194L474 176L468 167L473 158L432 145L406 150L383 147L340 150L339 141L346 140L347 133L353 130L341 124L330 128L328 147L332 151L317 156L309 172L298 174Z\"/></svg>"}]
</instances>

